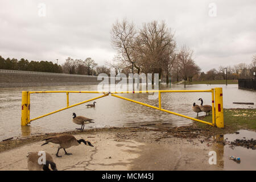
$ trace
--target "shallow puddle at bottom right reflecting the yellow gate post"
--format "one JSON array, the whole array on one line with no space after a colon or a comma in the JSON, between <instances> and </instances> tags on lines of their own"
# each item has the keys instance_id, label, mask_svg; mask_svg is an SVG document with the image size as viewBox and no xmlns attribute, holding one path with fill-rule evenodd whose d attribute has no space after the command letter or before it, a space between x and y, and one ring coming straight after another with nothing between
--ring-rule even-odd
<instances>
[{"instance_id":1,"label":"shallow puddle at bottom right reflecting the yellow gate post","mask_svg":"<svg viewBox=\"0 0 256 182\"><path fill-rule=\"evenodd\" d=\"M254 131L239 130L238 132L239 134L216 136L215 139L218 142L214 143L213 150L217 153L217 165L224 170L256 170L256 150L241 146L234 146L232 149L229 144L225 144L225 146L223 144L224 142L233 142L236 139L256 139L256 132ZM230 160L230 155L240 157L241 163L238 164L234 160Z\"/></svg>"}]
</instances>

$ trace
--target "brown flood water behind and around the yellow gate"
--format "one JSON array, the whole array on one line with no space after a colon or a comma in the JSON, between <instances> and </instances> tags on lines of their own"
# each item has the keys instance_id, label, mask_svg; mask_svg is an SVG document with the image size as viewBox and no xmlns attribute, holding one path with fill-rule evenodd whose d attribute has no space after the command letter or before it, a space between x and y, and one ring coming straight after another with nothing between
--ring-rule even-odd
<instances>
[{"instance_id":1,"label":"brown flood water behind and around the yellow gate","mask_svg":"<svg viewBox=\"0 0 256 182\"><path fill-rule=\"evenodd\" d=\"M186 90L203 90L216 87L223 88L224 108L256 108L256 94L253 91L238 89L238 85L187 85ZM183 90L183 85L160 86L161 90ZM77 125L72 122L72 113L94 119L95 123L85 125L86 128L98 127L130 127L152 123L168 123L172 126L189 125L191 121L176 115L164 113L150 107L121 100L113 96L106 96L96 100L95 108L87 108L79 105L60 111L47 117L32 121L30 126L21 127L21 100L22 91L43 90L97 90L97 85L83 86L48 86L31 88L0 88L0 140L10 137L24 137L28 134L53 133L74 130ZM69 105L100 96L101 94L70 93ZM158 100L148 100L146 93L121 94L123 97L141 101L146 104L158 106ZM211 105L211 93L162 93L162 108L176 113L196 117L192 111L193 102L200 104L199 98L203 98L204 104ZM236 105L232 102L254 102L254 105ZM92 102L90 102L92 104ZM66 107L65 93L31 94L30 118L35 118L51 111ZM204 115L204 113L199 113Z\"/></svg>"}]
</instances>

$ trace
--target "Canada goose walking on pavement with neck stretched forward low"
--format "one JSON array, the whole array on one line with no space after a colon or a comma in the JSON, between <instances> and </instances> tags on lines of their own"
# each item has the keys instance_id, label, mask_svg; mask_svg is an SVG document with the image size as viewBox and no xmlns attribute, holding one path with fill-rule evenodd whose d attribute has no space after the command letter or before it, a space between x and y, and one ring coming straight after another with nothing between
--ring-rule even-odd
<instances>
[{"instance_id":1,"label":"Canada goose walking on pavement with neck stretched forward low","mask_svg":"<svg viewBox=\"0 0 256 182\"><path fill-rule=\"evenodd\" d=\"M56 153L56 156L58 158L61 158L61 156L58 155L60 148L63 148L63 150L65 151L65 155L72 155L71 153L68 153L65 150L65 148L78 146L81 142L83 142L84 144L88 143L89 146L93 147L93 145L90 142L86 142L84 139L77 140L73 135L58 135L58 136L47 138L44 140L46 140L46 143L42 144L42 146L44 146L45 144L48 144L49 142L60 145Z\"/></svg>"}]
</instances>

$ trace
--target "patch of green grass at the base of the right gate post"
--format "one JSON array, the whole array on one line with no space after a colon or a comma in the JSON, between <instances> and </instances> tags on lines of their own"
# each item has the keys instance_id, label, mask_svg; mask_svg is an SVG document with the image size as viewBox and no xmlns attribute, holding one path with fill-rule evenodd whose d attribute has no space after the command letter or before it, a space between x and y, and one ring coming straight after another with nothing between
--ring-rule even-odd
<instances>
[{"instance_id":1,"label":"patch of green grass at the base of the right gate post","mask_svg":"<svg viewBox=\"0 0 256 182\"><path fill-rule=\"evenodd\" d=\"M202 120L212 122L212 115ZM256 131L256 109L224 109L224 128L222 129L200 122L195 122L195 125L202 129L209 129L215 134L234 133L240 129Z\"/></svg>"}]
</instances>

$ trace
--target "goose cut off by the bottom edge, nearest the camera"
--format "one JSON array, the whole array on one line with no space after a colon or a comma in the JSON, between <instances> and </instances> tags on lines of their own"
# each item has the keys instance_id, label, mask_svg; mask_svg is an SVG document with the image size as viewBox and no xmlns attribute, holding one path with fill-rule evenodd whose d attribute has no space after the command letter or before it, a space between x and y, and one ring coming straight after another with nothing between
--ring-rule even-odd
<instances>
[{"instance_id":1,"label":"goose cut off by the bottom edge, nearest the camera","mask_svg":"<svg viewBox=\"0 0 256 182\"><path fill-rule=\"evenodd\" d=\"M49 164L52 168L52 171L57 171L56 164L53 162L52 156L46 152L46 164L39 164L38 159L42 155L38 155L38 152L31 152L28 154L27 159L27 168L30 171L51 171L49 169Z\"/></svg>"}]
</instances>

